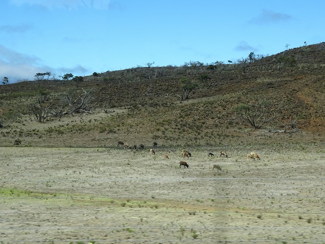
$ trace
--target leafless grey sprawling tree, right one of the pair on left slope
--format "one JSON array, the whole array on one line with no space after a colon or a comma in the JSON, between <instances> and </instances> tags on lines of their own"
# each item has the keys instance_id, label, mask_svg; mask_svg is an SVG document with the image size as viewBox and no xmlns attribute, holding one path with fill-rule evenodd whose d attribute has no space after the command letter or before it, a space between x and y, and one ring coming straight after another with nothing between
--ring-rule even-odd
<instances>
[{"instance_id":1,"label":"leafless grey sprawling tree, right one of the pair on left slope","mask_svg":"<svg viewBox=\"0 0 325 244\"><path fill-rule=\"evenodd\" d=\"M66 98L69 103L70 114L92 112L94 108L101 100L102 97L96 99L92 97L93 90L68 90Z\"/></svg>"}]
</instances>

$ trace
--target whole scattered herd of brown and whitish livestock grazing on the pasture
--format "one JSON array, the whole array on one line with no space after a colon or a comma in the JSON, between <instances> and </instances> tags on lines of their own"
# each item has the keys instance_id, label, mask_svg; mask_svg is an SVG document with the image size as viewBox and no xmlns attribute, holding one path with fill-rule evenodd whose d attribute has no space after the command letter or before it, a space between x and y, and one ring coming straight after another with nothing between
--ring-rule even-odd
<instances>
[{"instance_id":1,"label":"whole scattered herd of brown and whitish livestock grazing on the pasture","mask_svg":"<svg viewBox=\"0 0 325 244\"><path fill-rule=\"evenodd\" d=\"M131 146L128 143L124 143L122 141L118 141L117 142L117 146L119 146L119 145L124 146L124 149L134 149L134 150L136 150L137 148L139 148L140 150L143 150L144 149L144 145L143 144L140 144L139 147L137 147L137 145ZM158 143L157 142L153 142L153 147L157 147L157 146L158 146ZM151 148L150 149L150 154L151 155L155 155L154 148ZM209 153L208 157L210 157L210 156L213 157L214 154ZM191 153L188 150L182 150L181 157L183 159L185 159L187 157L187 159L188 159L188 157L191 157ZM164 158L165 159L169 159L169 157L168 157L167 154L165 154ZM228 158L227 152L226 151L220 151L219 158ZM250 154L247 154L247 160L255 160L255 159L256 160L257 159L258 160L261 160L261 158L259 158L259 156L254 151L252 151ZM189 167L188 164L185 161L180 161L179 162L179 168L181 168L181 166L183 166L184 168L185 167L187 167L187 168ZM219 165L217 165L217 164L212 165L211 172L215 172L214 169L217 169L217 172L219 172L219 170L222 171L221 170L221 167Z\"/></svg>"}]
</instances>

